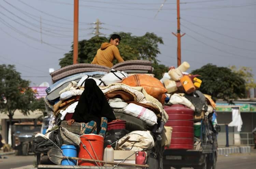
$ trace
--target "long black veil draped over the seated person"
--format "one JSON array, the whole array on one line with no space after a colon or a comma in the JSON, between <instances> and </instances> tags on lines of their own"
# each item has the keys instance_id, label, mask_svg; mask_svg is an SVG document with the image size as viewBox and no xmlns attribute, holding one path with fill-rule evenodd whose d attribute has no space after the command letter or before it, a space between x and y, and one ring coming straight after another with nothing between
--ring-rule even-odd
<instances>
[{"instance_id":1,"label":"long black veil draped over the seated person","mask_svg":"<svg viewBox=\"0 0 256 169\"><path fill-rule=\"evenodd\" d=\"M104 93L97 86L95 80L87 79L84 91L78 101L73 114L73 119L79 123L95 121L97 123L97 134L101 127L101 117L108 118L108 121L115 120L113 110L109 106Z\"/></svg>"}]
</instances>

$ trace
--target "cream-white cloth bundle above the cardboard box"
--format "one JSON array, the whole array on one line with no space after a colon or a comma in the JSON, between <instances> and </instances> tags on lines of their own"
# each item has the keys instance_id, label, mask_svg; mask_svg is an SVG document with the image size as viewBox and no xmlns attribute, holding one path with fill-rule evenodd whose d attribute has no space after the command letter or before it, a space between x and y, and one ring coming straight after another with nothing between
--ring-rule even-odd
<instances>
[{"instance_id":1,"label":"cream-white cloth bundle above the cardboard box","mask_svg":"<svg viewBox=\"0 0 256 169\"><path fill-rule=\"evenodd\" d=\"M129 148L132 151L144 151L144 149L150 150L155 146L150 131L132 131L119 139L117 143L120 144L127 136L130 138L123 145L117 147L118 150Z\"/></svg>"}]
</instances>

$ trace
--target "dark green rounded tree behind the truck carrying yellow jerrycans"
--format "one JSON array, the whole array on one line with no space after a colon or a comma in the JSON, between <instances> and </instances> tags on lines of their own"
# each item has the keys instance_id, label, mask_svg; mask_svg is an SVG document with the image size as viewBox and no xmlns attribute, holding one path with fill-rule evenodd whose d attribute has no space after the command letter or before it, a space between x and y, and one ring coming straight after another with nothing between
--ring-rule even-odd
<instances>
[{"instance_id":1,"label":"dark green rounded tree behind the truck carrying yellow jerrycans","mask_svg":"<svg viewBox=\"0 0 256 169\"><path fill-rule=\"evenodd\" d=\"M199 90L211 95L213 99L232 103L233 99L243 98L245 95L245 80L229 68L207 64L191 73L201 75L199 78L202 84Z\"/></svg>"}]
</instances>

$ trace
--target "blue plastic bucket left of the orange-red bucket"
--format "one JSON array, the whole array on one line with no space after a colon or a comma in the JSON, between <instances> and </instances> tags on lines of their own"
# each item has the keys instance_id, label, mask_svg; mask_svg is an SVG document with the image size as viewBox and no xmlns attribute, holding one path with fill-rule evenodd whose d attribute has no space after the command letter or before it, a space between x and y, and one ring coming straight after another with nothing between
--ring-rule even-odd
<instances>
[{"instance_id":1,"label":"blue plastic bucket left of the orange-red bucket","mask_svg":"<svg viewBox=\"0 0 256 169\"><path fill-rule=\"evenodd\" d=\"M77 157L76 147L74 145L62 145L61 150L63 151L63 155L69 157ZM62 166L76 166L76 160L74 159L63 159L61 161Z\"/></svg>"}]
</instances>

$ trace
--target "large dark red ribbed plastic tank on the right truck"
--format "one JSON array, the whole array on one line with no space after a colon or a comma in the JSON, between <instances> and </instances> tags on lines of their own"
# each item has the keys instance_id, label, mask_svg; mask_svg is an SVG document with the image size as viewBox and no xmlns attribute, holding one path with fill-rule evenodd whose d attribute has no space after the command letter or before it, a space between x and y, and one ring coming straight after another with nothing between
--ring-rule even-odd
<instances>
[{"instance_id":1,"label":"large dark red ribbed plastic tank on the right truck","mask_svg":"<svg viewBox=\"0 0 256 169\"><path fill-rule=\"evenodd\" d=\"M166 149L194 149L194 111L184 105L164 106L172 127L171 145Z\"/></svg>"}]
</instances>

